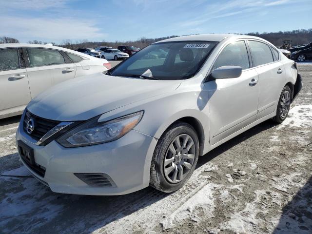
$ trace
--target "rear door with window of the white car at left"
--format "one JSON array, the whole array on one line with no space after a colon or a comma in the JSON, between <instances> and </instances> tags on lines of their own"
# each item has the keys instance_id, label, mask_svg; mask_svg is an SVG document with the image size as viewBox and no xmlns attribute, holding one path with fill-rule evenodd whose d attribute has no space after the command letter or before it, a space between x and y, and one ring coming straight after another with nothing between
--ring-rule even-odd
<instances>
[{"instance_id":1,"label":"rear door with window of the white car at left","mask_svg":"<svg viewBox=\"0 0 312 234\"><path fill-rule=\"evenodd\" d=\"M33 47L24 51L28 56L26 70L32 98L57 83L75 78L77 66L66 63L69 59L59 50Z\"/></svg>"}]
</instances>

